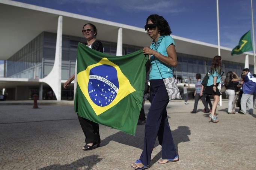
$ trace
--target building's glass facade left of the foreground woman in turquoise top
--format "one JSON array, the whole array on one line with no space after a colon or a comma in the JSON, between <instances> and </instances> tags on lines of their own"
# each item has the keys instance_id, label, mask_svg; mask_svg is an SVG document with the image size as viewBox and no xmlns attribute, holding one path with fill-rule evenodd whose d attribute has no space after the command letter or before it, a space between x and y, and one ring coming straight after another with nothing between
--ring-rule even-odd
<instances>
[{"instance_id":1,"label":"building's glass facade left of the foreground woman in turquoise top","mask_svg":"<svg viewBox=\"0 0 256 170\"><path fill-rule=\"evenodd\" d=\"M47 76L53 68L56 48L56 34L42 32L35 39L10 57L7 62L7 77L38 79ZM86 39L75 36L62 36L62 80L75 73L78 42ZM104 53L116 55L116 43L102 41ZM142 49L142 47L123 45L123 54Z\"/></svg>"}]
</instances>

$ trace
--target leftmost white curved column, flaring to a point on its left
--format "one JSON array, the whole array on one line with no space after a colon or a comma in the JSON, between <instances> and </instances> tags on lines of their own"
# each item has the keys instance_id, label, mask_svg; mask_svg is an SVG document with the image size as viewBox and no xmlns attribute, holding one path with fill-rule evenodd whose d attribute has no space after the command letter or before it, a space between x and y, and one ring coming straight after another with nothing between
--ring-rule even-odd
<instances>
[{"instance_id":1,"label":"leftmost white curved column, flaring to a point on its left","mask_svg":"<svg viewBox=\"0 0 256 170\"><path fill-rule=\"evenodd\" d=\"M59 16L58 18L56 51L53 69L45 78L39 80L40 82L47 83L51 89L53 89L57 101L61 100L62 18L62 16Z\"/></svg>"}]
</instances>

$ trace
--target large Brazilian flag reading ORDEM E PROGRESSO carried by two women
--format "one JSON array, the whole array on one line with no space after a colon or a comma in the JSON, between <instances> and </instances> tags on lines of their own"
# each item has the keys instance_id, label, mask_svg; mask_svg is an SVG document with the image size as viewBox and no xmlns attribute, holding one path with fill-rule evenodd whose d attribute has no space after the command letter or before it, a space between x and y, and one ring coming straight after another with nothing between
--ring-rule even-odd
<instances>
[{"instance_id":1,"label":"large Brazilian flag reading ORDEM E PROGRESSO carried by two women","mask_svg":"<svg viewBox=\"0 0 256 170\"><path fill-rule=\"evenodd\" d=\"M116 57L77 48L75 112L93 122L135 135L148 56L142 50Z\"/></svg>"}]
</instances>

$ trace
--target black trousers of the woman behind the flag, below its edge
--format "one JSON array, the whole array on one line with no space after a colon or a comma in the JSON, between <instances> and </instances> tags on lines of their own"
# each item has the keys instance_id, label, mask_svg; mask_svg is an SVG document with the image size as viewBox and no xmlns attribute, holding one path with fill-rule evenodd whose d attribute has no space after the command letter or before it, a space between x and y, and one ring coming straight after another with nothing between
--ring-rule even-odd
<instances>
[{"instance_id":1,"label":"black trousers of the woman behind the flag, below its edge","mask_svg":"<svg viewBox=\"0 0 256 170\"><path fill-rule=\"evenodd\" d=\"M84 132L85 143L93 143L93 144L100 143L101 138L99 136L99 124L80 116L78 116L78 120Z\"/></svg>"}]
</instances>

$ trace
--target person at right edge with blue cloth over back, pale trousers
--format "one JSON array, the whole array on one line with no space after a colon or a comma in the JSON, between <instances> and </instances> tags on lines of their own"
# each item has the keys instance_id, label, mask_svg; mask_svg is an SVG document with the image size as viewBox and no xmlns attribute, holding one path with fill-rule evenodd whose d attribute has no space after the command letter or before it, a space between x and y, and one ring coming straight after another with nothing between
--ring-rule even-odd
<instances>
[{"instance_id":1,"label":"person at right edge with blue cloth over back, pale trousers","mask_svg":"<svg viewBox=\"0 0 256 170\"><path fill-rule=\"evenodd\" d=\"M250 70L245 68L242 70L244 84L242 85L243 94L241 98L241 110L240 112L246 114L246 107L248 107L248 113L253 114L253 93L256 92L256 78L254 78Z\"/></svg>"}]
</instances>

